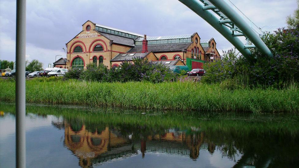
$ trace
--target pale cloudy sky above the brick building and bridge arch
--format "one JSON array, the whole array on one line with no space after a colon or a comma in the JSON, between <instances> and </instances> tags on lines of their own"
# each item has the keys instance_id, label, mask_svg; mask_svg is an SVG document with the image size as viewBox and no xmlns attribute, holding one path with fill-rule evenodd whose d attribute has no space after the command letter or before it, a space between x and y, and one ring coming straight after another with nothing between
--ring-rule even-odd
<instances>
[{"instance_id":1,"label":"pale cloudy sky above the brick building and bridge arch","mask_svg":"<svg viewBox=\"0 0 299 168\"><path fill-rule=\"evenodd\" d=\"M231 1L265 30L286 27L286 17L297 8L296 0ZM177 0L27 0L26 18L26 59L37 59L44 67L55 55L66 57L62 48L87 20L148 36L198 32L201 39L214 37L218 51L233 47ZM16 1L0 0L1 60L15 61L15 31Z\"/></svg>"}]
</instances>

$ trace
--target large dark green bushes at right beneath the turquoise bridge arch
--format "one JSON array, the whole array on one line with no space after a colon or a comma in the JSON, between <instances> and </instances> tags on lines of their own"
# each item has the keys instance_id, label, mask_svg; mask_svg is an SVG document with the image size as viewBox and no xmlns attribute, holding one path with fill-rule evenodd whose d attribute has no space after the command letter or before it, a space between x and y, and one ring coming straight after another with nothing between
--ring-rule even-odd
<instances>
[{"instance_id":1,"label":"large dark green bushes at right beneath the turquoise bridge arch","mask_svg":"<svg viewBox=\"0 0 299 168\"><path fill-rule=\"evenodd\" d=\"M225 80L246 86L282 88L299 82L299 27L278 29L261 36L274 57L264 56L258 49L251 49L256 58L251 62L235 50L225 52L220 61L205 64L205 83L221 83ZM226 85L226 84L223 84Z\"/></svg>"}]
</instances>

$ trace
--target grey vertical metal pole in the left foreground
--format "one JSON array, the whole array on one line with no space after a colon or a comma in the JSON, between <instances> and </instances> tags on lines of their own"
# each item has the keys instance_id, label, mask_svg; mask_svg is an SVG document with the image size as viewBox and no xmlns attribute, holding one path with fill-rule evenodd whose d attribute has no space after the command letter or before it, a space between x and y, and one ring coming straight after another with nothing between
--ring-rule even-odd
<instances>
[{"instance_id":1,"label":"grey vertical metal pole in the left foreground","mask_svg":"<svg viewBox=\"0 0 299 168\"><path fill-rule=\"evenodd\" d=\"M16 20L16 167L26 167L25 53L26 0L17 0Z\"/></svg>"}]
</instances>

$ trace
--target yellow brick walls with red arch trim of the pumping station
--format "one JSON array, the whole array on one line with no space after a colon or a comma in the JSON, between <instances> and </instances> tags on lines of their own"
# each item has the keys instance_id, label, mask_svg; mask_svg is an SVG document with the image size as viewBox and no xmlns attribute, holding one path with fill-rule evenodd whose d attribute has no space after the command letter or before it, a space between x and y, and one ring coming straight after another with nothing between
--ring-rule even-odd
<instances>
[{"instance_id":1,"label":"yellow brick walls with red arch trim of the pumping station","mask_svg":"<svg viewBox=\"0 0 299 168\"><path fill-rule=\"evenodd\" d=\"M90 27L90 30L87 28ZM121 62L111 62L112 58L114 58L118 54L127 53L132 46L127 46L123 44L114 43L112 40L105 37L105 35L96 31L96 24L91 21L87 21L82 25L82 31L76 35L72 40L66 43L67 47L67 63L66 68L72 67L72 63L74 58L80 57L83 60L84 69L86 69L86 65L89 63L93 63L94 58L97 58L97 65L100 64L100 57L103 58L103 64L107 66L109 69L112 65L117 64L120 65ZM93 51L96 45L101 45L103 47L103 51ZM167 60L174 60L176 56L179 56L181 60L183 60L183 65L186 65L186 58L195 58L200 59L202 61L210 61L206 53L214 52L216 57L215 59L220 59L220 55L218 50L216 49L215 40L212 39L209 41L209 49L205 52L204 48L200 44L200 37L197 33L194 33L191 36L191 43L187 49L184 51L170 51L170 52L153 52L148 57L149 60L156 61L161 60L163 56L167 58ZM214 50L212 48L214 45ZM82 48L82 52L74 52L74 48L80 46ZM192 54L193 53L193 54ZM205 56L206 55L206 56Z\"/></svg>"}]
</instances>

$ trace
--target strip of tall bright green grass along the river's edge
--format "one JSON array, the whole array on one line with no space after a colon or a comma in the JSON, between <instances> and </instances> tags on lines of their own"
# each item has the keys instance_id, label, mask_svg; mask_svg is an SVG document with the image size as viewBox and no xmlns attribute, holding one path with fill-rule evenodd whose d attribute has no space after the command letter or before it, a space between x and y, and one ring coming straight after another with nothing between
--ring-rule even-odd
<instances>
[{"instance_id":1,"label":"strip of tall bright green grass along the river's edge","mask_svg":"<svg viewBox=\"0 0 299 168\"><path fill-rule=\"evenodd\" d=\"M0 100L15 100L15 82L0 81ZM98 83L59 78L26 81L28 103L199 111L299 112L299 89L223 89L218 84Z\"/></svg>"}]
</instances>

